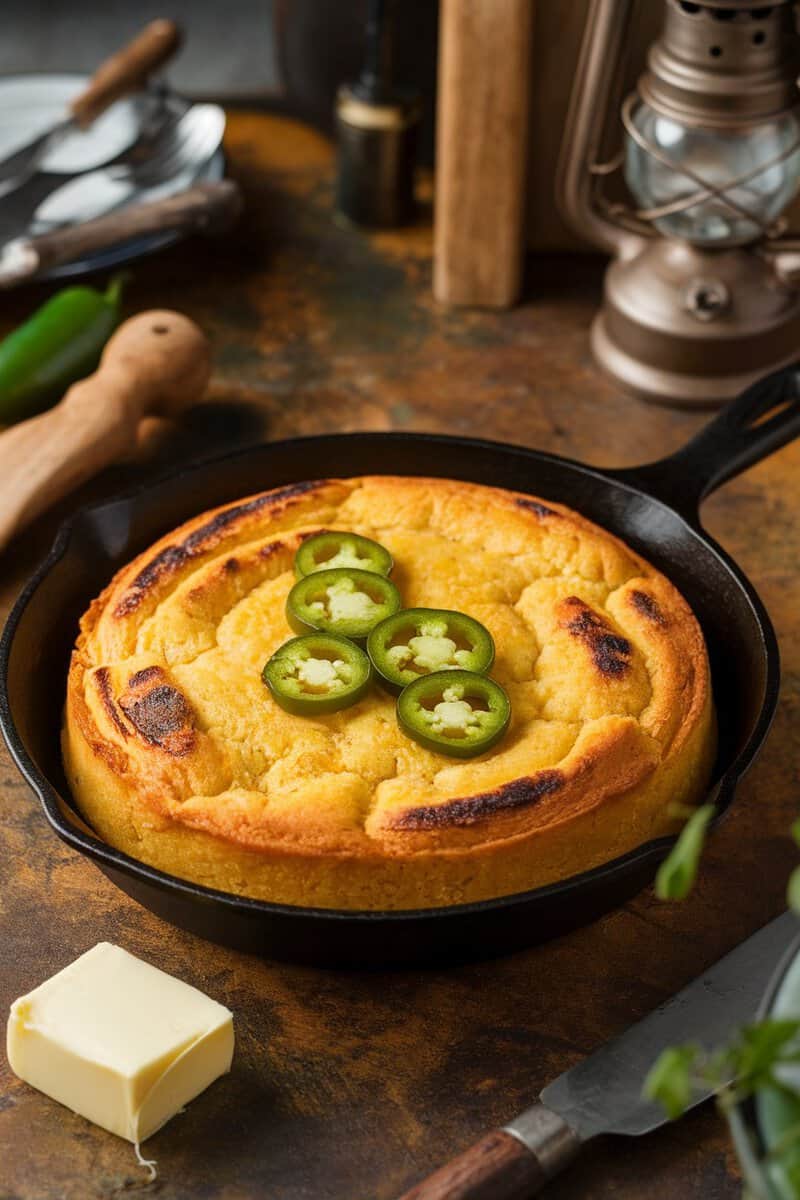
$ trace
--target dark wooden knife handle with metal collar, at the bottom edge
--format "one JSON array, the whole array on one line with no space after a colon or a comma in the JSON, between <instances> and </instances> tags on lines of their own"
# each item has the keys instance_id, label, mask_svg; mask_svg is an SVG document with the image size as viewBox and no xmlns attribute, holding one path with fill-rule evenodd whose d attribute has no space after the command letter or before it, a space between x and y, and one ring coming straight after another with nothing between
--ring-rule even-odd
<instances>
[{"instance_id":1,"label":"dark wooden knife handle with metal collar, at the bottom edge","mask_svg":"<svg viewBox=\"0 0 800 1200\"><path fill-rule=\"evenodd\" d=\"M513 1127L516 1134L493 1129L401 1200L528 1200L581 1147L570 1126L543 1104L522 1114Z\"/></svg>"}]
</instances>

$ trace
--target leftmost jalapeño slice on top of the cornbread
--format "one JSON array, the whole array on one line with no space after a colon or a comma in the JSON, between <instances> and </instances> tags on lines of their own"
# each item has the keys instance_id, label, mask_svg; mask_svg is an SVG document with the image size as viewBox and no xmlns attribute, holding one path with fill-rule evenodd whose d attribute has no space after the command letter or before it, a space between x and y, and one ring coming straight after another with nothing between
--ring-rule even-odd
<instances>
[{"instance_id":1,"label":"leftmost jalape\u00f1o slice on top of the cornbread","mask_svg":"<svg viewBox=\"0 0 800 1200\"><path fill-rule=\"evenodd\" d=\"M366 694L371 676L363 650L331 634L293 637L261 672L277 703L297 716L321 716L349 708Z\"/></svg>"}]
</instances>

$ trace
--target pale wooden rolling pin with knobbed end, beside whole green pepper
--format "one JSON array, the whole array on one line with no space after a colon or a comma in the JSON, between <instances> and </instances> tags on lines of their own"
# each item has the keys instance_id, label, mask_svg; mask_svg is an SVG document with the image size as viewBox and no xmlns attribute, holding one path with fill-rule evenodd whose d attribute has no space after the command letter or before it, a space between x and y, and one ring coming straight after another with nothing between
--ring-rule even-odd
<instances>
[{"instance_id":1,"label":"pale wooden rolling pin with knobbed end, beside whole green pepper","mask_svg":"<svg viewBox=\"0 0 800 1200\"><path fill-rule=\"evenodd\" d=\"M205 334L179 312L126 320L95 374L41 416L0 433L0 550L29 521L121 457L145 416L176 416L211 374Z\"/></svg>"}]
</instances>

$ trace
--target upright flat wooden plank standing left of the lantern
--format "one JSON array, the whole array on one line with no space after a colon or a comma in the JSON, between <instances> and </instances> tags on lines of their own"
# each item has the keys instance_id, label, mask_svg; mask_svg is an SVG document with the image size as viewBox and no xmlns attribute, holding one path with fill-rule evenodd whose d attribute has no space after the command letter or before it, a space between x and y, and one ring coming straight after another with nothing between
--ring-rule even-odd
<instances>
[{"instance_id":1,"label":"upright flat wooden plank standing left of the lantern","mask_svg":"<svg viewBox=\"0 0 800 1200\"><path fill-rule=\"evenodd\" d=\"M519 292L534 0L441 0L433 294L504 308Z\"/></svg>"}]
</instances>

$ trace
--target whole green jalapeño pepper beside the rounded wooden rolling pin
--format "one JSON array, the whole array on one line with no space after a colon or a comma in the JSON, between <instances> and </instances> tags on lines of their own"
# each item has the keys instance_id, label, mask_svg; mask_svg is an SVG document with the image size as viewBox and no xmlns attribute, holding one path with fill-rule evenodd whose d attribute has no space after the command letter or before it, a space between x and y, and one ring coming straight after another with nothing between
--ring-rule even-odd
<instances>
[{"instance_id":1,"label":"whole green jalape\u00f1o pepper beside the rounded wooden rolling pin","mask_svg":"<svg viewBox=\"0 0 800 1200\"><path fill-rule=\"evenodd\" d=\"M120 323L122 277L108 289L66 288L0 342L0 425L55 404L91 374Z\"/></svg>"}]
</instances>

